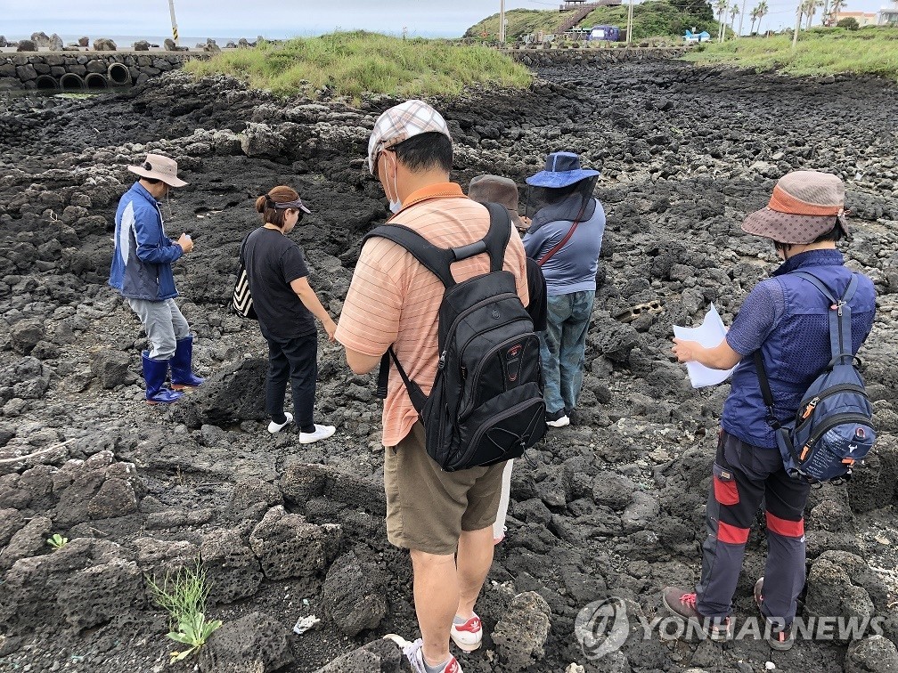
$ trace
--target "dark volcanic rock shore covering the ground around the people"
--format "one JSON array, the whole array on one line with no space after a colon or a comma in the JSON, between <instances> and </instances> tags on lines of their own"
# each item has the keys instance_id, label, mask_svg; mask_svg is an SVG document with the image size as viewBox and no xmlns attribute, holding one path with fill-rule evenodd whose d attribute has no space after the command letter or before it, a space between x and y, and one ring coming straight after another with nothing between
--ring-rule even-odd
<instances>
[{"instance_id":1,"label":"dark volcanic rock shore covering the ground around the people","mask_svg":"<svg viewBox=\"0 0 898 673\"><path fill-rule=\"evenodd\" d=\"M529 92L437 101L462 184L482 172L523 184L545 153L570 149L602 168L609 218L580 409L515 465L506 541L479 603L487 637L464 670L894 671L898 89L677 62L539 72ZM283 101L180 72L86 101L0 99L0 669L169 668L166 616L145 578L199 555L209 616L225 622L199 670L401 670L380 636L412 639L417 626L408 555L385 536L373 381L322 340L318 408L337 435L311 447L272 437L263 341L226 310L252 203L286 183L313 209L293 234L310 283L339 313L358 241L387 214L365 148L393 102ZM177 159L190 183L163 207L169 232L196 242L176 279L207 377L167 409L143 402L145 338L106 285L125 166L148 151ZM883 633L784 653L753 639L644 638L642 620L663 616L659 591L696 578L728 391L691 389L669 355L672 325L700 320L710 302L732 320L774 267L741 217L797 168L846 179L846 256L879 293L860 354L879 439L849 485L812 494L804 611L881 617ZM69 540L60 549L45 542L55 533ZM754 529L737 619L753 615L764 549ZM629 637L590 660L575 621L609 597L626 606ZM294 634L308 616L321 621Z\"/></svg>"}]
</instances>

